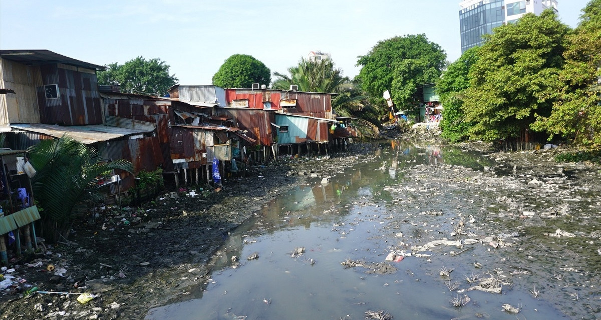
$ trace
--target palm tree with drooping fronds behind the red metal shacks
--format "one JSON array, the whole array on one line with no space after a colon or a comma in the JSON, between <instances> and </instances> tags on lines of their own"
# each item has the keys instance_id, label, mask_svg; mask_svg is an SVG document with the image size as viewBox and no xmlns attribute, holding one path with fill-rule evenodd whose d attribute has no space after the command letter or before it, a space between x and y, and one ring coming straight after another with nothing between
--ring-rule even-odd
<instances>
[{"instance_id":1,"label":"palm tree with drooping fronds behind the red metal shacks","mask_svg":"<svg viewBox=\"0 0 601 320\"><path fill-rule=\"evenodd\" d=\"M355 124L364 137L376 137L379 126L374 125L377 117L371 98L362 91L361 85L356 81L343 76L341 69L336 69L331 60L305 60L297 66L289 67L285 75L274 72L278 77L273 82L272 88L288 90L290 85L297 85L299 91L336 93L332 99L332 110L343 117L356 118Z\"/></svg>"}]
</instances>

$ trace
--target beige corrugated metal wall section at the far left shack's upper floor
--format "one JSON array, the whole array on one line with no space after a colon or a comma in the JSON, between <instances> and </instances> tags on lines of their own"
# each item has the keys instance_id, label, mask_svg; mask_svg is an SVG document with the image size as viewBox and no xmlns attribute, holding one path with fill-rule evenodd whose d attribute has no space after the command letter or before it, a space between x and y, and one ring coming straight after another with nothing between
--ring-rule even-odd
<instances>
[{"instance_id":1,"label":"beige corrugated metal wall section at the far left shack's upper floor","mask_svg":"<svg viewBox=\"0 0 601 320\"><path fill-rule=\"evenodd\" d=\"M0 59L0 88L14 94L0 94L0 123L38 123L40 111L36 87L42 85L39 66L25 66L15 61Z\"/></svg>"}]
</instances>

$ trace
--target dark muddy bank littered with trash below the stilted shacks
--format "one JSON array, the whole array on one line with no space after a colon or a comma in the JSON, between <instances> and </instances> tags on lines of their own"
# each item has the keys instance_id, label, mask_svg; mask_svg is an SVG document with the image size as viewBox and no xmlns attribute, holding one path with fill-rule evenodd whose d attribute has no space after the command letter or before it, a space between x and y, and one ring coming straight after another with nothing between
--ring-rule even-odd
<instances>
[{"instance_id":1,"label":"dark muddy bank littered with trash below the stilted shacks","mask_svg":"<svg viewBox=\"0 0 601 320\"><path fill-rule=\"evenodd\" d=\"M226 179L219 192L165 191L138 209L105 207L76 221L68 242L16 260L6 274L22 279L0 293L4 319L141 319L151 307L203 289L210 258L228 232L282 192L313 177L352 167L377 146L353 144L347 152L313 158L282 157L255 165L251 176ZM4 272L3 272L4 273ZM3 279L4 280L4 279ZM78 295L93 292L86 304Z\"/></svg>"}]
</instances>

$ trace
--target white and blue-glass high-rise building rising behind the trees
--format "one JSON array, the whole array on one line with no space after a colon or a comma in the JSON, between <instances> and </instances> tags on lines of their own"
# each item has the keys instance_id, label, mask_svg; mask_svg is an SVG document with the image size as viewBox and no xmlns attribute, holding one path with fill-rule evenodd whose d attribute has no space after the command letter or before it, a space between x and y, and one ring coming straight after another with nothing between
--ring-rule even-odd
<instances>
[{"instance_id":1,"label":"white and blue-glass high-rise building rising behind the trees","mask_svg":"<svg viewBox=\"0 0 601 320\"><path fill-rule=\"evenodd\" d=\"M480 46L482 35L506 23L515 22L526 13L540 14L552 8L557 12L557 0L463 0L459 2L461 52Z\"/></svg>"}]
</instances>

